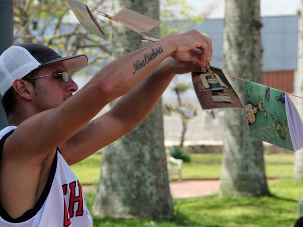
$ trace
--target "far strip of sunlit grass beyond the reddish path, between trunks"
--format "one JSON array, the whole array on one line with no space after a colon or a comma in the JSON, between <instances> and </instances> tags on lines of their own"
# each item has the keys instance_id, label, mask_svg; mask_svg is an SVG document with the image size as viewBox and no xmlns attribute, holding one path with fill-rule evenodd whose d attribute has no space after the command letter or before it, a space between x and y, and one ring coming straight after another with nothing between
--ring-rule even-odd
<instances>
[{"instance_id":1,"label":"far strip of sunlit grass beyond the reddish path, between trunks","mask_svg":"<svg viewBox=\"0 0 303 227\"><path fill-rule=\"evenodd\" d=\"M183 179L219 178L222 154L190 154L191 162L183 163ZM265 154L265 171L267 177L293 176L294 153ZM94 154L86 160L72 165L71 168L80 182L97 184L100 175L102 155Z\"/></svg>"}]
</instances>

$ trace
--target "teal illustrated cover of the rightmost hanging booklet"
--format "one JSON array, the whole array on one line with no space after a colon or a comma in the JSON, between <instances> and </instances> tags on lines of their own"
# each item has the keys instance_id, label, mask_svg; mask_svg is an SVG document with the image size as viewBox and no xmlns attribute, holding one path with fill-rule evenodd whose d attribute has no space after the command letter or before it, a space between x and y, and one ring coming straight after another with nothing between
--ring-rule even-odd
<instances>
[{"instance_id":1,"label":"teal illustrated cover of the rightmost hanging booklet","mask_svg":"<svg viewBox=\"0 0 303 227\"><path fill-rule=\"evenodd\" d=\"M252 137L294 150L286 117L284 91L245 81L245 108Z\"/></svg>"}]
</instances>

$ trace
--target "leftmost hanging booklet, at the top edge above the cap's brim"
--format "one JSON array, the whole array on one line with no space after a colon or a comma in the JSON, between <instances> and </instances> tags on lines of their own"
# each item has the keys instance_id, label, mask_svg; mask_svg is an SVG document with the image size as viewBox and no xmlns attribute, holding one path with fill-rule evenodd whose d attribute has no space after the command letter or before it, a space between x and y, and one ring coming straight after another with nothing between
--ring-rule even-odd
<instances>
[{"instance_id":1,"label":"leftmost hanging booklet, at the top edge above the cap's brim","mask_svg":"<svg viewBox=\"0 0 303 227\"><path fill-rule=\"evenodd\" d=\"M85 3L80 0L67 0L67 2L78 21L80 21L82 26L87 31L101 37L104 40L108 40L108 36L102 30L96 18L92 15Z\"/></svg>"}]
</instances>

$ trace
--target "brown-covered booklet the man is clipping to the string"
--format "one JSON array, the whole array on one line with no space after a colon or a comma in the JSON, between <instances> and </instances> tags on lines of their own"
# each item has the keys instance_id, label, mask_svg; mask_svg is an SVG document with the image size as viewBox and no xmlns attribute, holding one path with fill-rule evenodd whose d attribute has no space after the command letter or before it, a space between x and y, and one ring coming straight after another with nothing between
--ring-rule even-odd
<instances>
[{"instance_id":1,"label":"brown-covered booklet the man is clipping to the string","mask_svg":"<svg viewBox=\"0 0 303 227\"><path fill-rule=\"evenodd\" d=\"M223 71L213 66L210 69L211 72L207 73L192 72L195 93L202 109L245 109Z\"/></svg>"}]
</instances>

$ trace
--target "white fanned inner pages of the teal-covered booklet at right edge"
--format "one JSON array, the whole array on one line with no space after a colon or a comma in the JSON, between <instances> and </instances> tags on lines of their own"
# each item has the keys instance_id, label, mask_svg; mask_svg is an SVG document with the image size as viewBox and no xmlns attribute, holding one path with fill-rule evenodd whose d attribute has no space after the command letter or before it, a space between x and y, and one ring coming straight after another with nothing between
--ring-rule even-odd
<instances>
[{"instance_id":1,"label":"white fanned inner pages of the teal-covered booklet at right edge","mask_svg":"<svg viewBox=\"0 0 303 227\"><path fill-rule=\"evenodd\" d=\"M285 92L286 116L294 150L303 147L303 123L295 104Z\"/></svg>"}]
</instances>

